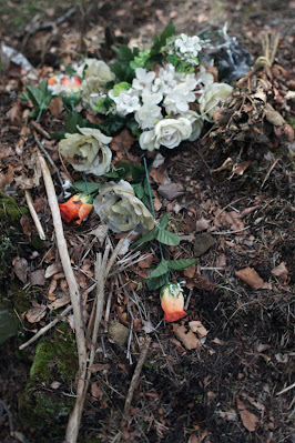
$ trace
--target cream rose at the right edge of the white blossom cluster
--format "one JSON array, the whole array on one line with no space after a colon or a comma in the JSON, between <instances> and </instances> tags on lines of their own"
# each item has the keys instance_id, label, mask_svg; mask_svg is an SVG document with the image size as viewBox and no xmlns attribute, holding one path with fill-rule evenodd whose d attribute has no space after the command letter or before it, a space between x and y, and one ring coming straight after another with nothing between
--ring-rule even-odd
<instances>
[{"instance_id":1,"label":"cream rose at the right edge of the white blossom cluster","mask_svg":"<svg viewBox=\"0 0 295 443\"><path fill-rule=\"evenodd\" d=\"M213 114L218 103L231 95L233 88L227 83L212 83L205 88L204 93L200 98L200 112L204 120L213 122Z\"/></svg>"}]
</instances>

